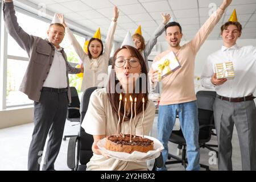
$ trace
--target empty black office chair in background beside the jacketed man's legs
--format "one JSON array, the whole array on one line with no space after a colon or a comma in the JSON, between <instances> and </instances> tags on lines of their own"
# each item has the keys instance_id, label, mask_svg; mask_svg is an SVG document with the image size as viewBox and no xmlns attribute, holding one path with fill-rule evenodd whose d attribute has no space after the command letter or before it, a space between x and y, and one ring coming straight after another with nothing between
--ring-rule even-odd
<instances>
[{"instance_id":1,"label":"empty black office chair in background beside the jacketed man's legs","mask_svg":"<svg viewBox=\"0 0 256 182\"><path fill-rule=\"evenodd\" d=\"M71 92L71 104L68 106L67 119L70 122L79 122L80 123L80 101L77 94L77 90L74 86L70 87ZM74 126L74 125L72 125ZM77 135L65 135L63 140L66 138L76 137Z\"/></svg>"}]
</instances>

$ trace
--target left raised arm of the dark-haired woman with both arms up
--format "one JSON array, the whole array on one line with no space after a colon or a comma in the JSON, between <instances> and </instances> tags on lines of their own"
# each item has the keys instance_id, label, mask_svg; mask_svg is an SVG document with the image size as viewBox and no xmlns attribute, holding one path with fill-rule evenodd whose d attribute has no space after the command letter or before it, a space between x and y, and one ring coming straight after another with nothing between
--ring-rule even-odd
<instances>
[{"instance_id":1,"label":"left raised arm of the dark-haired woman with both arms up","mask_svg":"<svg viewBox=\"0 0 256 182\"><path fill-rule=\"evenodd\" d=\"M65 32L67 34L68 42L71 43L77 55L79 55L80 59L83 61L85 57L88 55L86 55L86 53L80 46L79 42L76 40L75 36L73 35L73 32L68 28L67 24L65 23L64 15L63 14L56 14L56 15L59 18L60 23L63 24L63 26L65 27Z\"/></svg>"}]
</instances>

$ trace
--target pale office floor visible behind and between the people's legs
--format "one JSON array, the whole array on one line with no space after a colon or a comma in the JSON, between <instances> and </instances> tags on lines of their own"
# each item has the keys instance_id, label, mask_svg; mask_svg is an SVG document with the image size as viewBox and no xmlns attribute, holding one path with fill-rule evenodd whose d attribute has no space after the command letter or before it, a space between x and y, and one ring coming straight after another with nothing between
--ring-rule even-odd
<instances>
[{"instance_id":1,"label":"pale office floor visible behind and between the people's legs","mask_svg":"<svg viewBox=\"0 0 256 182\"><path fill-rule=\"evenodd\" d=\"M151 131L151 135L155 137L156 135L156 121L155 118L154 126ZM74 123L71 123L69 121L66 122L64 135L72 135L76 134L79 125L72 126ZM176 129L179 126L175 126ZM31 135L32 130L34 128L34 124L26 124L26 125L20 125L15 127L10 127L7 129L1 129L0 130L0 171L3 170L27 170L27 154L28 154L28 148L30 146L31 141ZM61 148L59 152L59 156L56 159L55 162L55 169L61 170L61 171L67 171L70 170L67 167L67 148L68 148L68 140L63 141L61 143ZM217 140L216 137L212 137L212 140L209 143L216 144ZM237 132L236 129L234 129L233 133L233 169L234 170L241 170L241 154L240 154L240 148L238 144L238 138L237 138ZM171 154L176 155L177 154L177 145L169 142L169 151ZM217 164L209 164L209 159L211 156L209 156L209 150L207 148L200 148L200 163L206 164L210 167L210 170L217 170ZM212 160L211 160L212 161ZM148 165L152 164L152 162L148 162ZM152 166L149 166L148 168L151 168ZM181 164L172 164L168 165L168 170L170 171L182 171L184 170L184 167L181 166ZM204 170L203 168L201 170Z\"/></svg>"}]
</instances>

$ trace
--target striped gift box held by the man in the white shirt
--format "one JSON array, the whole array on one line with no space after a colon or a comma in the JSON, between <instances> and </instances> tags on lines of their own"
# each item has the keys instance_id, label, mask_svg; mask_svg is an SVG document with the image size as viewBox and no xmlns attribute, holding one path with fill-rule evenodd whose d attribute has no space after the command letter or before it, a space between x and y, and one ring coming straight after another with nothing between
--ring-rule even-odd
<instances>
[{"instance_id":1,"label":"striped gift box held by the man in the white shirt","mask_svg":"<svg viewBox=\"0 0 256 182\"><path fill-rule=\"evenodd\" d=\"M215 64L216 76L220 78L233 79L235 77L234 67L232 62L216 63Z\"/></svg>"}]
</instances>

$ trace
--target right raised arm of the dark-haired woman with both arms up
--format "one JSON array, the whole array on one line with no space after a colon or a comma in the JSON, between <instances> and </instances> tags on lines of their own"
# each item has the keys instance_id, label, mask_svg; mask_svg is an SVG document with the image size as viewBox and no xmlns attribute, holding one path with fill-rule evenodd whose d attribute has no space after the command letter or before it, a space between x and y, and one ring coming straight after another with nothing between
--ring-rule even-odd
<instances>
[{"instance_id":1,"label":"right raised arm of the dark-haired woman with both arms up","mask_svg":"<svg viewBox=\"0 0 256 182\"><path fill-rule=\"evenodd\" d=\"M108 35L106 36L105 49L104 49L104 55L107 61L109 61L111 49L113 46L114 32L115 32L115 28L117 27L118 16L119 16L119 11L117 9L117 6L114 6L114 15L113 15L112 22L110 23Z\"/></svg>"}]
</instances>

